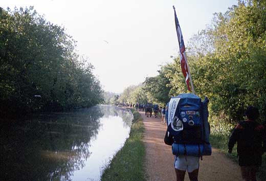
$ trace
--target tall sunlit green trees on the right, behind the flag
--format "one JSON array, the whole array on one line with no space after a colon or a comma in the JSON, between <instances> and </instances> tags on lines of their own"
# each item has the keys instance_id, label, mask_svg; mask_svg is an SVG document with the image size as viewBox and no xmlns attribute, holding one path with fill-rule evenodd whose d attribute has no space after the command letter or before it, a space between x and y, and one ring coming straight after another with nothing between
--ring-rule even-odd
<instances>
[{"instance_id":1,"label":"tall sunlit green trees on the right, behind the flag","mask_svg":"<svg viewBox=\"0 0 266 181\"><path fill-rule=\"evenodd\" d=\"M188 61L197 95L210 99L213 115L239 121L248 105L266 109L266 3L243 1L189 43ZM170 94L186 92L179 57L168 72ZM165 93L166 94L166 93ZM264 119L264 117L261 117Z\"/></svg>"}]
</instances>

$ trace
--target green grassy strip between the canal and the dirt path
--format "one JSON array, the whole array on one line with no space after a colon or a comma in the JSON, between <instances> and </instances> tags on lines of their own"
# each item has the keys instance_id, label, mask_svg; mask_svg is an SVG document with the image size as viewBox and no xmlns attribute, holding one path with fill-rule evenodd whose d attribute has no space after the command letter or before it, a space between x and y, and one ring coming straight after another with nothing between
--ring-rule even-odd
<instances>
[{"instance_id":1,"label":"green grassy strip between the canal and the dirt path","mask_svg":"<svg viewBox=\"0 0 266 181\"><path fill-rule=\"evenodd\" d=\"M103 171L102 181L145 180L143 139L144 125L138 111L131 109L134 120L123 148L117 152L110 165Z\"/></svg>"}]
</instances>

